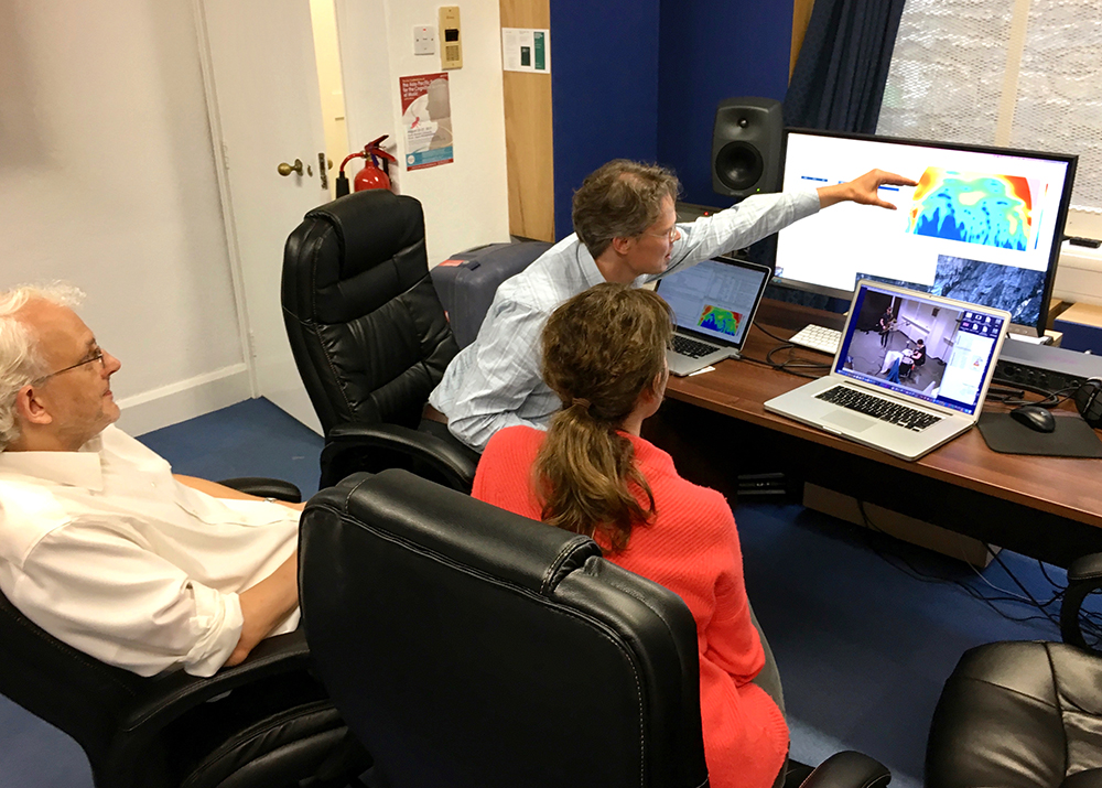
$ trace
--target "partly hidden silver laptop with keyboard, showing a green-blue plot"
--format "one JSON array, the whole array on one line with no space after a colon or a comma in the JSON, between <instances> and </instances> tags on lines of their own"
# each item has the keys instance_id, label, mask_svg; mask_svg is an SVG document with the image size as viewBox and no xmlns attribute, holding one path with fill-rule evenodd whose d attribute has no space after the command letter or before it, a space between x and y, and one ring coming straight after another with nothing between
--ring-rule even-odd
<instances>
[{"instance_id":1,"label":"partly hidden silver laptop with keyboard, showing a green-blue plot","mask_svg":"<svg viewBox=\"0 0 1102 788\"><path fill-rule=\"evenodd\" d=\"M677 328L667 360L673 375L691 375L738 358L773 270L747 260L704 260L658 280Z\"/></svg>"}]
</instances>

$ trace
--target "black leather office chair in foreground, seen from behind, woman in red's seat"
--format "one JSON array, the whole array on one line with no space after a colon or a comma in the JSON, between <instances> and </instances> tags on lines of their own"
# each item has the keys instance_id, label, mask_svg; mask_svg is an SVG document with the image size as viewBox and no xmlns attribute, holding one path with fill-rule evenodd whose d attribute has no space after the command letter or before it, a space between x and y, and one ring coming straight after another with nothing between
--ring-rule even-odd
<instances>
[{"instance_id":1,"label":"black leather office chair in foreground, seen from behind, woman in red's seat","mask_svg":"<svg viewBox=\"0 0 1102 788\"><path fill-rule=\"evenodd\" d=\"M700 788L696 627L587 537L404 471L311 499L303 625L391 788ZM885 785L857 753L808 786Z\"/></svg>"}]
</instances>

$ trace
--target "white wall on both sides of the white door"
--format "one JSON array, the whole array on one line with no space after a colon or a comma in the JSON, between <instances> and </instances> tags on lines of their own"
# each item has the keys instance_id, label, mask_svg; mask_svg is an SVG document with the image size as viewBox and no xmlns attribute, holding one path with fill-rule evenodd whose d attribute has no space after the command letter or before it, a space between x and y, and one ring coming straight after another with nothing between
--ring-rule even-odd
<instances>
[{"instance_id":1,"label":"white wall on both sides of the white door","mask_svg":"<svg viewBox=\"0 0 1102 788\"><path fill-rule=\"evenodd\" d=\"M353 147L400 132L425 0L338 0ZM508 238L498 0L461 6L455 163L401 173L431 263ZM290 231L292 228L288 228ZM65 279L123 361L139 434L251 396L190 0L11 0L0 24L0 287Z\"/></svg>"}]
</instances>

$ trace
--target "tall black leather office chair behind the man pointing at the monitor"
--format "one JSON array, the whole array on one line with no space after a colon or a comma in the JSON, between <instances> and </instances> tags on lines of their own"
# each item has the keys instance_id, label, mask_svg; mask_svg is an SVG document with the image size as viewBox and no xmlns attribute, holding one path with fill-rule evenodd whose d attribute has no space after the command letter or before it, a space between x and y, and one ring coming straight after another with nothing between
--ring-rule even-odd
<instances>
[{"instance_id":1,"label":"tall black leather office chair behind the man pointing at the monitor","mask_svg":"<svg viewBox=\"0 0 1102 788\"><path fill-rule=\"evenodd\" d=\"M407 467L469 490L477 455L419 429L458 352L429 278L421 204L369 190L311 211L287 240L282 302L325 431L321 486Z\"/></svg>"}]
</instances>

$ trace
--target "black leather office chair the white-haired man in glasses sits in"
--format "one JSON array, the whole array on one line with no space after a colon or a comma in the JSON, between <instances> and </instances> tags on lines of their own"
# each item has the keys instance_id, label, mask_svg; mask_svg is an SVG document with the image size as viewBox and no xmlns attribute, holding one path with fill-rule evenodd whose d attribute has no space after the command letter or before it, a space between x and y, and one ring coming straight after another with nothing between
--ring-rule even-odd
<instances>
[{"instance_id":1,"label":"black leather office chair the white-haired man in glasses sits in","mask_svg":"<svg viewBox=\"0 0 1102 788\"><path fill-rule=\"evenodd\" d=\"M269 479L227 482L284 500L299 494ZM299 630L210 678L142 678L66 646L0 594L0 692L75 738L97 788L358 785L370 758L310 667Z\"/></svg>"}]
</instances>

